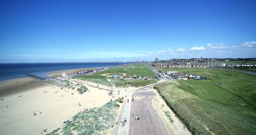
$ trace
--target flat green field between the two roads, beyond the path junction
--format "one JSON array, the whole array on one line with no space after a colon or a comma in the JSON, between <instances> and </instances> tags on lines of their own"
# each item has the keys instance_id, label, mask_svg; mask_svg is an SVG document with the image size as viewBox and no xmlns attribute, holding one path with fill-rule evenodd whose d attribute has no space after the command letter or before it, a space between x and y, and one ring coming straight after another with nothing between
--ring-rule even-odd
<instances>
[{"instance_id":1,"label":"flat green field between the two roads, beyond the path junction","mask_svg":"<svg viewBox=\"0 0 256 135\"><path fill-rule=\"evenodd\" d=\"M127 68L129 66L135 66L137 68L134 68L134 69ZM109 76L112 76L112 75L121 75L122 76L123 75L122 73L126 74L126 77L134 76L134 75L136 75L137 77L139 77L139 76L155 77L156 76L156 74L153 73L147 67L147 64L128 64L128 65L121 66L118 68L113 68L110 70L97 72L93 75L78 76L78 77L74 77L74 78L80 79L80 80L91 81L91 82L108 85L108 86L115 86L115 87L128 87L128 86L140 87L140 86L145 86L145 85L157 82L154 79L152 79L152 80L125 80L125 79L124 80L116 80L116 79L111 79L111 81L108 81L107 79L109 79L109 77L103 76L103 74L108 74Z\"/></svg>"}]
</instances>

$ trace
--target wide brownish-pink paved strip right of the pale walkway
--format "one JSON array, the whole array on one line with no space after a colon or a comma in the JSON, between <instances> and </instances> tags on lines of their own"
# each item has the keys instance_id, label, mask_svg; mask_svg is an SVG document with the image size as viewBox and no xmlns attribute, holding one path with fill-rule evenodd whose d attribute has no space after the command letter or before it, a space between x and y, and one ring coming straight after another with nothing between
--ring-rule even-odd
<instances>
[{"instance_id":1,"label":"wide brownish-pink paved strip right of the pale walkway","mask_svg":"<svg viewBox=\"0 0 256 135\"><path fill-rule=\"evenodd\" d=\"M169 134L165 124L153 107L153 92L137 92L131 110L130 134ZM135 116L140 120L135 120Z\"/></svg>"}]
</instances>

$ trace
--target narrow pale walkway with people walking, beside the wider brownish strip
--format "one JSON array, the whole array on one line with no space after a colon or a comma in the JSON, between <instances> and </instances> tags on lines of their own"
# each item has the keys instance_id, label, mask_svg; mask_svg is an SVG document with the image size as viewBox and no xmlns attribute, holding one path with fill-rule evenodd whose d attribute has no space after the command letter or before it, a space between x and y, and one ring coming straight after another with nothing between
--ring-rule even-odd
<instances>
[{"instance_id":1,"label":"narrow pale walkway with people walking, beside the wider brownish strip","mask_svg":"<svg viewBox=\"0 0 256 135\"><path fill-rule=\"evenodd\" d=\"M124 117L126 117L127 122L125 123L124 127L122 127L120 120L118 121L119 123L118 134L122 134L122 135L129 134L132 95L133 95L133 92L127 92L126 98L129 99L129 103L127 103L127 101L124 101L126 102L126 104L123 107L123 114L122 114L122 121L124 120Z\"/></svg>"}]
</instances>

